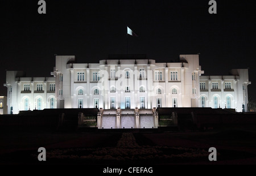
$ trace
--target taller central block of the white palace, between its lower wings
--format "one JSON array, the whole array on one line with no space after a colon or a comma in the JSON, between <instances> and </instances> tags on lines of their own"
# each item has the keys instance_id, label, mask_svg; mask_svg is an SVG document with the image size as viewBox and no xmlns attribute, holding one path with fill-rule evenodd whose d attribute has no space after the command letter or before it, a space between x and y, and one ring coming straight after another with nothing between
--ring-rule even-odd
<instances>
[{"instance_id":1,"label":"taller central block of the white palace, between its lower wings","mask_svg":"<svg viewBox=\"0 0 256 176\"><path fill-rule=\"evenodd\" d=\"M156 63L146 55L110 55L100 63L56 56L57 108L198 107L199 55Z\"/></svg>"}]
</instances>

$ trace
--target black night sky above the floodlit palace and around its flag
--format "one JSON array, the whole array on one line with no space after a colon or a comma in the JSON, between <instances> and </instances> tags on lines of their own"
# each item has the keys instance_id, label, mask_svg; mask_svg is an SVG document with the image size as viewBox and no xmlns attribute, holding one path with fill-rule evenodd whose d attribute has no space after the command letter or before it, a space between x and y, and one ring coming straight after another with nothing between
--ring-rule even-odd
<instances>
[{"instance_id":1,"label":"black night sky above the floodlit palace and around its flag","mask_svg":"<svg viewBox=\"0 0 256 176\"><path fill-rule=\"evenodd\" d=\"M55 54L97 63L109 54L146 54L156 62L200 53L204 75L227 75L250 68L249 97L256 99L255 1L218 0L217 14L204 1L38 1L1 2L0 95L6 95L5 70L51 76Z\"/></svg>"}]
</instances>

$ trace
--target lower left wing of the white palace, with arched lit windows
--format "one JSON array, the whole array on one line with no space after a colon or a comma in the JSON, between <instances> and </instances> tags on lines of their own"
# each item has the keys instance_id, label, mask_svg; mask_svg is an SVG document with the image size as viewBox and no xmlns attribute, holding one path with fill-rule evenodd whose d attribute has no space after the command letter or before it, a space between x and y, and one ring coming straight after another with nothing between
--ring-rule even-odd
<instances>
[{"instance_id":1,"label":"lower left wing of the white palace, with arched lit windows","mask_svg":"<svg viewBox=\"0 0 256 176\"><path fill-rule=\"evenodd\" d=\"M53 77L28 78L22 71L6 71L5 86L8 114L18 114L20 110L57 108Z\"/></svg>"}]
</instances>

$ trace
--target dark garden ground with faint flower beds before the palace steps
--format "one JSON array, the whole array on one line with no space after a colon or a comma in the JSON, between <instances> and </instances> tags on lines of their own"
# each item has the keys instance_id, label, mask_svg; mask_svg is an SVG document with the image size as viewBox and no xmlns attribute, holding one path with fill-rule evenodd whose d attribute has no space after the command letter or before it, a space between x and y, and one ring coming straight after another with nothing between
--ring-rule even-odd
<instances>
[{"instance_id":1,"label":"dark garden ground with faint flower beds before the palace steps","mask_svg":"<svg viewBox=\"0 0 256 176\"><path fill-rule=\"evenodd\" d=\"M2 132L0 141L3 167L256 164L254 128L206 132ZM46 161L38 161L39 147L46 148ZM217 161L209 161L210 147L217 149Z\"/></svg>"}]
</instances>

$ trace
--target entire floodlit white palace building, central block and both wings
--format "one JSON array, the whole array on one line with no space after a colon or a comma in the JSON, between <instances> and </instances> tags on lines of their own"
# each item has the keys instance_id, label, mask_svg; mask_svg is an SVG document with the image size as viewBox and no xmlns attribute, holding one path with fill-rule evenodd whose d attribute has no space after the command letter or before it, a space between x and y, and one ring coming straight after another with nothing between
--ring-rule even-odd
<instances>
[{"instance_id":1,"label":"entire floodlit white palace building, central block and both wings","mask_svg":"<svg viewBox=\"0 0 256 176\"><path fill-rule=\"evenodd\" d=\"M232 70L232 76L201 76L199 55L180 55L176 63L122 57L88 64L76 63L73 55L57 55L55 78L26 78L22 72L7 71L8 113L44 108L216 108L216 97L217 108L225 108L228 100L229 108L247 109L246 69ZM213 83L218 87L212 88Z\"/></svg>"}]
</instances>

